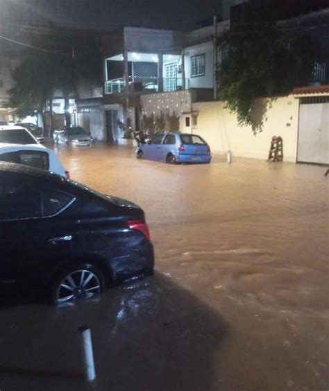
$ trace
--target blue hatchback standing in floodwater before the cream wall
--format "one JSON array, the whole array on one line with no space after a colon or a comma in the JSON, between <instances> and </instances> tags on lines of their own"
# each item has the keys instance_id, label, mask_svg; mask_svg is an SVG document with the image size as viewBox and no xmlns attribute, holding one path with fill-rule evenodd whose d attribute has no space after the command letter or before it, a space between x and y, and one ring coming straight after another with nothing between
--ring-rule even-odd
<instances>
[{"instance_id":1,"label":"blue hatchback standing in floodwater before the cream wall","mask_svg":"<svg viewBox=\"0 0 329 391\"><path fill-rule=\"evenodd\" d=\"M158 160L169 164L210 163L209 145L199 135L190 133L157 133L136 150L139 159Z\"/></svg>"}]
</instances>

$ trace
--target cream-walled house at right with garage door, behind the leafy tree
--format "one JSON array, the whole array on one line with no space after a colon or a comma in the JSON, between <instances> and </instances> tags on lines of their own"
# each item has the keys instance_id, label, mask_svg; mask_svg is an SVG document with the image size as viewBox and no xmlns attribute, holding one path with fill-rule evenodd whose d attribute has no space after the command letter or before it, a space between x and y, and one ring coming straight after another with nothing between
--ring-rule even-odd
<instances>
[{"instance_id":1,"label":"cream-walled house at right with garage door, behind the leafy tree","mask_svg":"<svg viewBox=\"0 0 329 391\"><path fill-rule=\"evenodd\" d=\"M246 3L233 10L231 23L242 17ZM290 9L290 12L292 10ZM290 14L294 16L293 14ZM229 113L225 102L196 102L193 132L210 143L213 152L267 160L271 138L283 139L284 160L292 163L329 164L329 8L304 13L278 24L289 35L307 31L319 42L322 58L314 64L307 85L296 86L286 97L255 101L255 113L262 113L267 103L262 133L253 135L251 126L238 126L235 115Z\"/></svg>"}]
</instances>

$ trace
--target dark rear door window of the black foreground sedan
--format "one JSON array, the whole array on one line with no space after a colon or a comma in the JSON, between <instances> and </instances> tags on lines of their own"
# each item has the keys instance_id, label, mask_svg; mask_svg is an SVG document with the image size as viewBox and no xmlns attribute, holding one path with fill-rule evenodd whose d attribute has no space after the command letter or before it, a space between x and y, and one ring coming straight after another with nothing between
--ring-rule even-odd
<instances>
[{"instance_id":1,"label":"dark rear door window of the black foreground sedan","mask_svg":"<svg viewBox=\"0 0 329 391\"><path fill-rule=\"evenodd\" d=\"M41 217L41 192L24 184L0 185L0 219Z\"/></svg>"}]
</instances>

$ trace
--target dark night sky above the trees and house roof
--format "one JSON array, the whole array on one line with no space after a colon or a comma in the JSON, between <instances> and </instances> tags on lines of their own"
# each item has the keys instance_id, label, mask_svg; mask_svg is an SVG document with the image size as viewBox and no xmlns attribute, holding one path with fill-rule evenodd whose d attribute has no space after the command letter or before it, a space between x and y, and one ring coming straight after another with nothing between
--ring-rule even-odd
<instances>
[{"instance_id":1,"label":"dark night sky above the trees and house roof","mask_svg":"<svg viewBox=\"0 0 329 391\"><path fill-rule=\"evenodd\" d=\"M10 19L71 27L145 26L185 30L221 14L221 0L1 0Z\"/></svg>"}]
</instances>

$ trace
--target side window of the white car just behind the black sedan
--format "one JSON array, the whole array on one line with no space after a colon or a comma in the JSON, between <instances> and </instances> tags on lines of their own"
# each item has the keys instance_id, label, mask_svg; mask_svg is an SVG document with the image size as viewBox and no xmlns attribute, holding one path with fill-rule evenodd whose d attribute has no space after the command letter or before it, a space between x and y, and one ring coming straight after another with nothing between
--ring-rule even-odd
<instances>
[{"instance_id":1,"label":"side window of the white car just behind the black sedan","mask_svg":"<svg viewBox=\"0 0 329 391\"><path fill-rule=\"evenodd\" d=\"M49 169L49 156L47 152L15 151L0 154L2 162L19 163L40 169Z\"/></svg>"}]
</instances>

